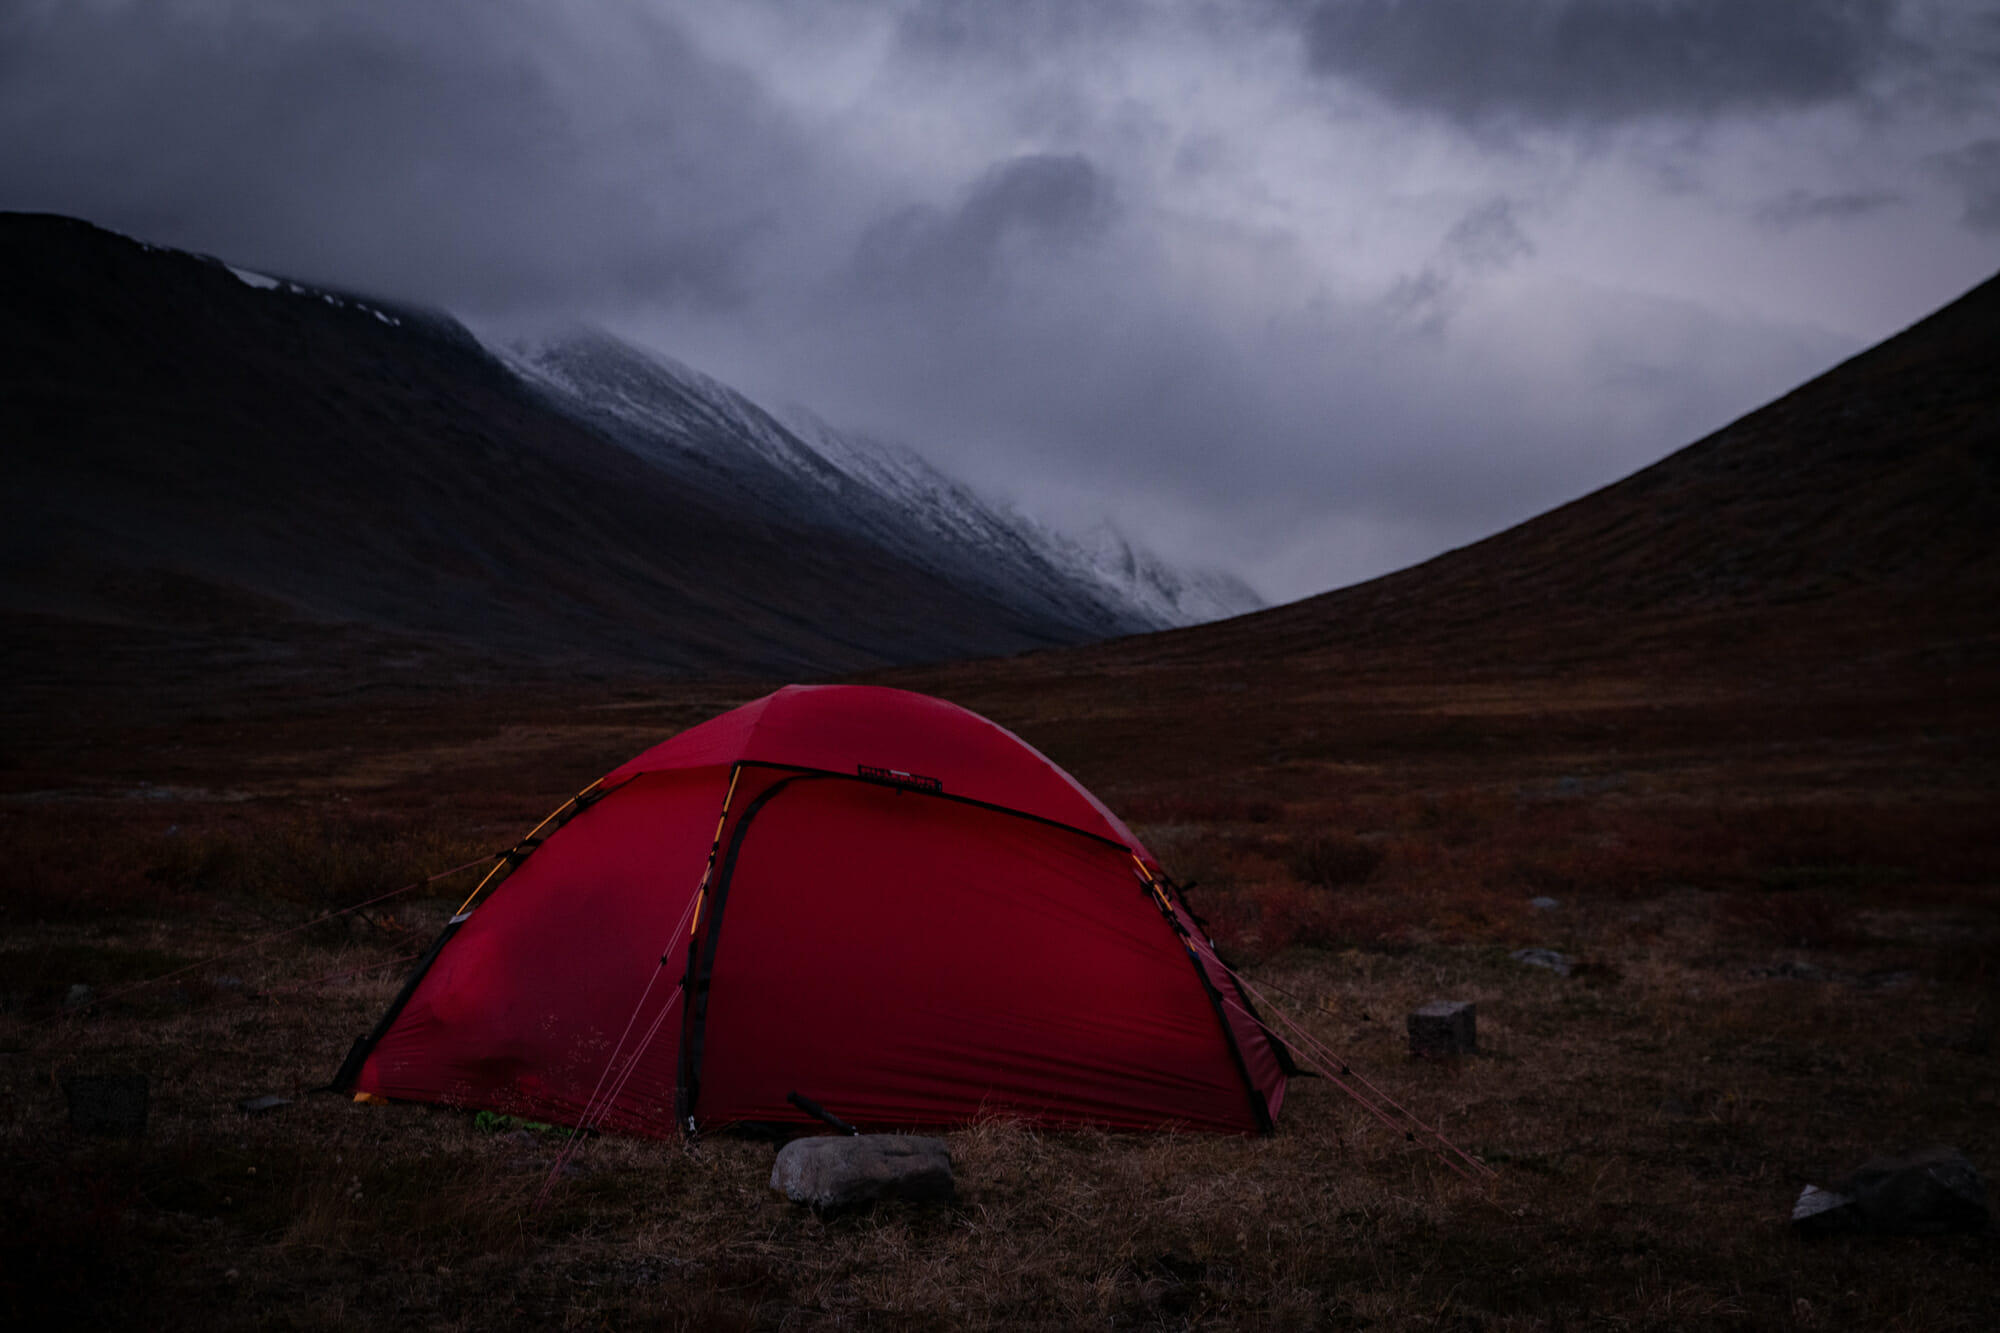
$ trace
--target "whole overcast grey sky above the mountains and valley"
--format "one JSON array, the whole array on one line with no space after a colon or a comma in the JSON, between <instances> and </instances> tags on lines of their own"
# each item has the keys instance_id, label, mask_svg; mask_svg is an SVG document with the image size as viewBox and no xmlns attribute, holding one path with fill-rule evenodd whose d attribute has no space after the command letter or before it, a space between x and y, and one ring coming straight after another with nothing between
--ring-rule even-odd
<instances>
[{"instance_id":1,"label":"whole overcast grey sky above the mountains and valley","mask_svg":"<svg viewBox=\"0 0 2000 1333\"><path fill-rule=\"evenodd\" d=\"M2000 0L6 0L0 208L596 322L1292 598L2000 268Z\"/></svg>"}]
</instances>

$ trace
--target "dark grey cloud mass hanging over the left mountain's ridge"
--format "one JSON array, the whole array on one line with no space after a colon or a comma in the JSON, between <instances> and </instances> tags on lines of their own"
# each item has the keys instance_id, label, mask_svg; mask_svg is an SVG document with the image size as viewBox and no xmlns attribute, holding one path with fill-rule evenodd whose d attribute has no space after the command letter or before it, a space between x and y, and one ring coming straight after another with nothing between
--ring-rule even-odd
<instances>
[{"instance_id":1,"label":"dark grey cloud mass hanging over the left mountain's ridge","mask_svg":"<svg viewBox=\"0 0 2000 1333\"><path fill-rule=\"evenodd\" d=\"M30 0L0 48L4 206L460 310L742 300L806 158L644 10Z\"/></svg>"}]
</instances>

